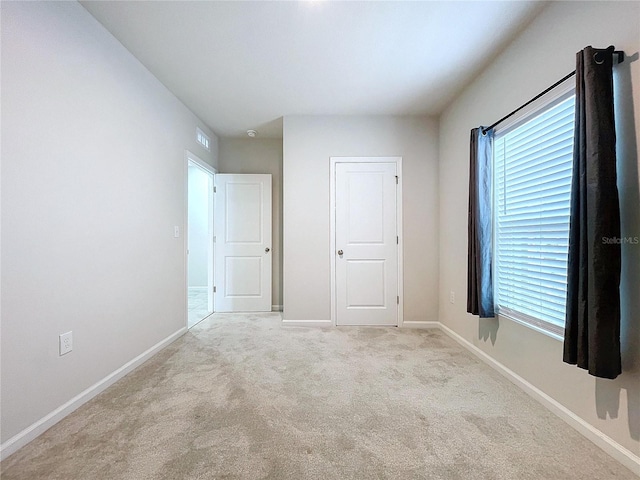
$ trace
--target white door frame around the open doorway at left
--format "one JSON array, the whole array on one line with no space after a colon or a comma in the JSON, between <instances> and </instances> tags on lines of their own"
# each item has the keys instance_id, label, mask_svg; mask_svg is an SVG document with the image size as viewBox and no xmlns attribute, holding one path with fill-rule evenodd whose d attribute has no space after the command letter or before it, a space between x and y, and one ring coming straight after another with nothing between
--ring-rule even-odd
<instances>
[{"instance_id":1,"label":"white door frame around the open doorway at left","mask_svg":"<svg viewBox=\"0 0 640 480\"><path fill-rule=\"evenodd\" d=\"M199 168L201 168L202 170L206 171L207 173L211 174L212 177L212 182L211 182L211 194L212 194L212 204L211 204L211 211L209 212L209 221L211 222L212 225L214 225L213 221L214 221L214 217L213 217L213 212L215 209L215 201L216 201L216 196L213 195L214 193L214 185L215 185L215 178L216 178L216 174L218 173L218 170L215 167L212 167L211 165L209 165L207 162L205 162L204 160L202 160L200 157L198 157L195 153L191 152L188 149L185 149L184 151L184 222L182 224L182 250L184 252L184 260L183 260L183 264L184 264L184 285L183 285L183 293L184 293L184 324L187 328L189 328L189 255L188 255L188 250L189 250L189 163L193 163L196 166L198 166ZM213 231L213 235L215 238L215 229ZM209 265L209 268L211 269L211 272L214 275L215 278L215 271L216 271L216 255L215 255L215 247L212 246L213 248L213 255L212 255L212 265ZM208 275L208 273L207 273ZM211 289L212 291L210 292L211 294L211 299L213 301L213 285L211 285ZM212 304L212 310L215 311L215 301L213 301Z\"/></svg>"}]
</instances>

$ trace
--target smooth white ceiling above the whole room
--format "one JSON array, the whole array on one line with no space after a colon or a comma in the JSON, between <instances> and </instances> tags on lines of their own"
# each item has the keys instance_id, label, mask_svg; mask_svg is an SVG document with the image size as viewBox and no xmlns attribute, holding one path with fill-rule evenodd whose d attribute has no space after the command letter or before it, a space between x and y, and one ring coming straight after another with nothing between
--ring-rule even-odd
<instances>
[{"instance_id":1,"label":"smooth white ceiling above the whole room","mask_svg":"<svg viewBox=\"0 0 640 480\"><path fill-rule=\"evenodd\" d=\"M439 114L539 1L82 1L220 136L284 115Z\"/></svg>"}]
</instances>

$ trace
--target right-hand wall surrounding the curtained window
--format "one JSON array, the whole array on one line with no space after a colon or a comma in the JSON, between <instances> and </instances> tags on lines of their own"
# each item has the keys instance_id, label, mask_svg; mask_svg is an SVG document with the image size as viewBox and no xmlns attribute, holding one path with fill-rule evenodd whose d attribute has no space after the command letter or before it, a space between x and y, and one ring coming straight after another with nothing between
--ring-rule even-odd
<instances>
[{"instance_id":1,"label":"right-hand wall surrounding the curtained window","mask_svg":"<svg viewBox=\"0 0 640 480\"><path fill-rule=\"evenodd\" d=\"M466 313L469 131L575 69L587 45L622 49L616 67L622 235L640 236L640 3L551 2L440 122L440 321L636 455L640 452L640 246L623 247L623 370L595 379L562 363L562 343L507 319ZM457 301L450 304L449 292Z\"/></svg>"}]
</instances>

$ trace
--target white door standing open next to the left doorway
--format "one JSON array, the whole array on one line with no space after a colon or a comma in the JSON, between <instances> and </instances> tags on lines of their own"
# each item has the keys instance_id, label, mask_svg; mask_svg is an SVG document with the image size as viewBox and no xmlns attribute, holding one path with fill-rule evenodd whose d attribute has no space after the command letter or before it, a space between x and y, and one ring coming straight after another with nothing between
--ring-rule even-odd
<instances>
[{"instance_id":1,"label":"white door standing open next to the left doorway","mask_svg":"<svg viewBox=\"0 0 640 480\"><path fill-rule=\"evenodd\" d=\"M215 311L271 311L271 175L215 178Z\"/></svg>"}]
</instances>

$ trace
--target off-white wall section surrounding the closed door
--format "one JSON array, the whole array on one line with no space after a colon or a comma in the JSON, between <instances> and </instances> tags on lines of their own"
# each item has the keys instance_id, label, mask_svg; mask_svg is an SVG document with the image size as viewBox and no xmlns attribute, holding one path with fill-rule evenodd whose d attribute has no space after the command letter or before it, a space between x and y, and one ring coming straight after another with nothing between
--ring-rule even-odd
<instances>
[{"instance_id":1,"label":"off-white wall section surrounding the closed door","mask_svg":"<svg viewBox=\"0 0 640 480\"><path fill-rule=\"evenodd\" d=\"M403 157L404 321L438 311L438 130L427 117L284 118L284 318L331 319L332 156Z\"/></svg>"}]
</instances>

